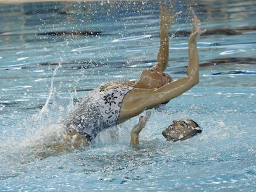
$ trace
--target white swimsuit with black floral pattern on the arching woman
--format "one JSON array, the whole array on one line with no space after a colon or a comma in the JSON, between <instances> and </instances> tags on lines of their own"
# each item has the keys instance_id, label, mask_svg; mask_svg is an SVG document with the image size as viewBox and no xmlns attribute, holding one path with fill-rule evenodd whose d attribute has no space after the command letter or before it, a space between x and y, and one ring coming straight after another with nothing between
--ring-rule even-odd
<instances>
[{"instance_id":1,"label":"white swimsuit with black floral pattern on the arching woman","mask_svg":"<svg viewBox=\"0 0 256 192\"><path fill-rule=\"evenodd\" d=\"M64 120L67 130L85 135L88 141L92 141L101 130L117 124L122 100L133 89L119 86L102 91L101 88L83 98L77 109Z\"/></svg>"}]
</instances>

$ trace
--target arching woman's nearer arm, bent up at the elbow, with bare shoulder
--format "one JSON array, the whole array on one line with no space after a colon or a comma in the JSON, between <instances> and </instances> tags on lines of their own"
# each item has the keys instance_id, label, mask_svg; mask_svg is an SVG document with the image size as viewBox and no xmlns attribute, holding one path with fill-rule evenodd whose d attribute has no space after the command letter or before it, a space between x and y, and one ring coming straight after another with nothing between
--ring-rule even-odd
<instances>
[{"instance_id":1,"label":"arching woman's nearer arm, bent up at the elbow, with bare shoulder","mask_svg":"<svg viewBox=\"0 0 256 192\"><path fill-rule=\"evenodd\" d=\"M199 61L197 52L197 40L205 30L200 30L200 20L192 12L193 29L189 37L189 65L187 76L171 81L156 89L134 89L127 93L122 101L121 111L117 123L139 115L145 109L151 109L158 104L167 102L199 82Z\"/></svg>"}]
</instances>

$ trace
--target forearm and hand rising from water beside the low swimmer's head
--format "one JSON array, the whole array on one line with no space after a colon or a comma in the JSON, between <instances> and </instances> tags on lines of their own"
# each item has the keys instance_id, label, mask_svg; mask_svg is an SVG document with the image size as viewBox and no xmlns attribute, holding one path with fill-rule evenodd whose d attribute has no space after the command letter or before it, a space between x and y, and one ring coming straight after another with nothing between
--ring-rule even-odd
<instances>
[{"instance_id":1,"label":"forearm and hand rising from water beside the low swimmer's head","mask_svg":"<svg viewBox=\"0 0 256 192\"><path fill-rule=\"evenodd\" d=\"M139 133L145 127L150 115L151 112L148 111L145 117L141 116L139 119L139 123L135 125L134 128L132 128L132 131L130 131L130 146L135 146L139 144Z\"/></svg>"}]
</instances>

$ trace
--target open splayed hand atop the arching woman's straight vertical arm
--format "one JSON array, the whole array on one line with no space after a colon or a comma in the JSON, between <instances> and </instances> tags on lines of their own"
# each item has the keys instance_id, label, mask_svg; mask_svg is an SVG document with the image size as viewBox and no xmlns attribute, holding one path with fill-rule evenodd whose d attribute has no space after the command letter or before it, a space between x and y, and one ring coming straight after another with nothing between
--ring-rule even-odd
<instances>
[{"instance_id":1,"label":"open splayed hand atop the arching woman's straight vertical arm","mask_svg":"<svg viewBox=\"0 0 256 192\"><path fill-rule=\"evenodd\" d=\"M166 2L163 4L159 3L159 10L160 10L160 30L164 30L168 33L169 27L171 26L171 23L174 19L176 19L177 15L181 14L181 12L177 12L174 15L171 15L173 13L173 6L167 10Z\"/></svg>"}]
</instances>

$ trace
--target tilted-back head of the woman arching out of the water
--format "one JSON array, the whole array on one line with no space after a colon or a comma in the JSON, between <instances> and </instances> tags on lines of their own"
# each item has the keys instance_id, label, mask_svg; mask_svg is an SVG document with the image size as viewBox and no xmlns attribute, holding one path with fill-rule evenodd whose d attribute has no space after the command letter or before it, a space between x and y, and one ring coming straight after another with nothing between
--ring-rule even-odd
<instances>
[{"instance_id":1,"label":"tilted-back head of the woman arching out of the water","mask_svg":"<svg viewBox=\"0 0 256 192\"><path fill-rule=\"evenodd\" d=\"M171 82L172 78L167 73L148 69L142 71L139 81L143 88L160 88L161 86Z\"/></svg>"}]
</instances>

